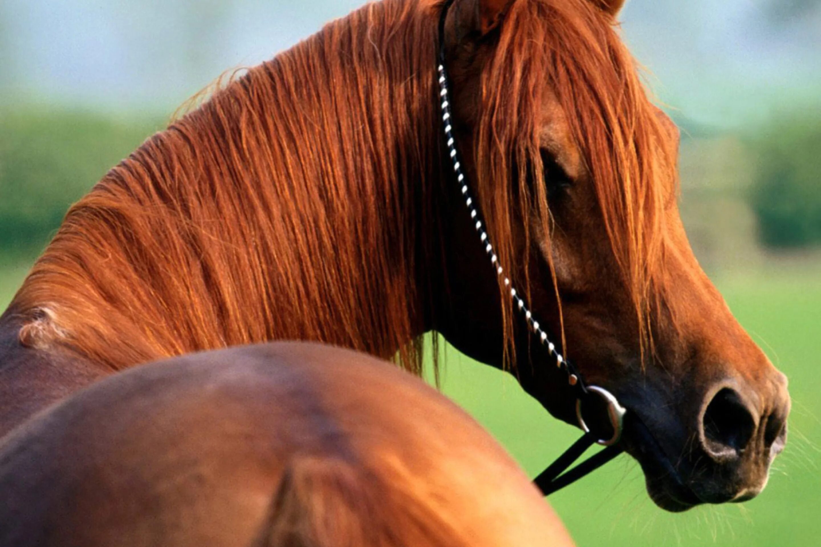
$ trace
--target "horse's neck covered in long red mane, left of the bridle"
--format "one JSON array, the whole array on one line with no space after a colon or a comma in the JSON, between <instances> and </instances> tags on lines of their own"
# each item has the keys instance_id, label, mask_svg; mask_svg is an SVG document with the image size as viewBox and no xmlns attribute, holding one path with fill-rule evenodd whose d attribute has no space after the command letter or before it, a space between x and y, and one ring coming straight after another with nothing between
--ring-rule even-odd
<instances>
[{"instance_id":1,"label":"horse's neck covered in long red mane, left of the bridle","mask_svg":"<svg viewBox=\"0 0 821 547\"><path fill-rule=\"evenodd\" d=\"M21 341L115 369L282 339L418 367L442 171L414 6L328 25L113 169L12 303Z\"/></svg>"}]
</instances>

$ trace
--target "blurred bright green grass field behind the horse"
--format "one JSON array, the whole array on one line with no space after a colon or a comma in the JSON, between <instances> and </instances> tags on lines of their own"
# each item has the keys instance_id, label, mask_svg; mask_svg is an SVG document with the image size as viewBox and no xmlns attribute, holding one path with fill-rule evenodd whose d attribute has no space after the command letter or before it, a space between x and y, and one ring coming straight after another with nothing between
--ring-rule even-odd
<instances>
[{"instance_id":1,"label":"blurred bright green grass field behind the horse","mask_svg":"<svg viewBox=\"0 0 821 547\"><path fill-rule=\"evenodd\" d=\"M0 262L0 309L28 264ZM663 513L644 491L640 468L622 456L569 490L553 507L579 545L819 545L821 538L821 266L727 277L718 285L736 316L791 380L787 450L759 499L689 513ZM511 377L447 351L446 394L460 403L534 476L576 439Z\"/></svg>"}]
</instances>

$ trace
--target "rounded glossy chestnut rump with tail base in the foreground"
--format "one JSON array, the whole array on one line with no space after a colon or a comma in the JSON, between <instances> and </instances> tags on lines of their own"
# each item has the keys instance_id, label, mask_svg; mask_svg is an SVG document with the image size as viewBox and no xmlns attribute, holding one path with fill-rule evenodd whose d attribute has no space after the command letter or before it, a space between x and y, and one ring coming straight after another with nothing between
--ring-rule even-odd
<instances>
[{"instance_id":1,"label":"rounded glossy chestnut rump with tail base in the foreground","mask_svg":"<svg viewBox=\"0 0 821 547\"><path fill-rule=\"evenodd\" d=\"M303 342L82 390L0 441L0 492L0 545L14 547L571 545L455 404Z\"/></svg>"}]
</instances>

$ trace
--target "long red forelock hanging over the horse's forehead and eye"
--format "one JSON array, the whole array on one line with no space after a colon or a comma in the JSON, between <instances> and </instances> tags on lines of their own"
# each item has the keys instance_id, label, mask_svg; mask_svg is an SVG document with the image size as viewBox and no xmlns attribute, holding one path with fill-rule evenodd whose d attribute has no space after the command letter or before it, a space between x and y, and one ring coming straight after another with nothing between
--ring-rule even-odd
<instances>
[{"instance_id":1,"label":"long red forelock hanging over the horse's forehead and eye","mask_svg":"<svg viewBox=\"0 0 821 547\"><path fill-rule=\"evenodd\" d=\"M478 191L492 220L489 230L500 262L523 258L512 248L515 217L541 218L544 233L550 233L546 191L541 185L529 189L527 182L543 180L539 123L548 88L565 112L594 184L607 231L603 237L635 307L642 352L652 349L649 317L666 290L663 213L677 192L677 143L612 19L589 0L513 2L481 85L485 107L475 141ZM530 171L519 170L520 180L511 180L514 163L530 166ZM514 192L513 185L524 191ZM530 239L529 223L523 228ZM530 287L530 280L524 285ZM501 279L500 289L511 357L512 313Z\"/></svg>"}]
</instances>

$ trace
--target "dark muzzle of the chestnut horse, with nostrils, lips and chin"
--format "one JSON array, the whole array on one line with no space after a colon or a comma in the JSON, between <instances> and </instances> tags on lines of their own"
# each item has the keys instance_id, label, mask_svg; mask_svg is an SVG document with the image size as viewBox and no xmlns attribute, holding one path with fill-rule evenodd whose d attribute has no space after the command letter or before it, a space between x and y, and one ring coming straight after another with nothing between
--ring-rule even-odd
<instances>
[{"instance_id":1,"label":"dark muzzle of the chestnut horse, with nostrils, lips and chin","mask_svg":"<svg viewBox=\"0 0 821 547\"><path fill-rule=\"evenodd\" d=\"M735 379L719 381L689 413L658 393L628 403L622 444L640 463L659 507L681 512L740 503L764 490L770 464L787 442L790 408L786 379L778 373L773 385L762 394Z\"/></svg>"}]
</instances>

